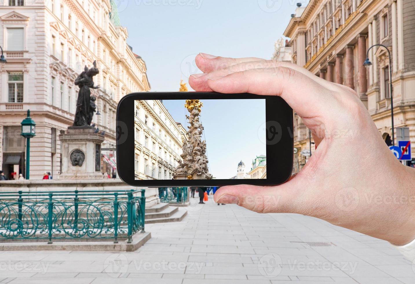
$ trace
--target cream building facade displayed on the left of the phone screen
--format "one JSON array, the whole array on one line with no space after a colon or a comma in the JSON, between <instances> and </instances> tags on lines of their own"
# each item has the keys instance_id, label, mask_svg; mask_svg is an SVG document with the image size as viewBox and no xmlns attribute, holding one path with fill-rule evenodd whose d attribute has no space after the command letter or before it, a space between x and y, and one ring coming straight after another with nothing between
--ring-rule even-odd
<instances>
[{"instance_id":1,"label":"cream building facade displayed on the left of the phone screen","mask_svg":"<svg viewBox=\"0 0 415 284\"><path fill-rule=\"evenodd\" d=\"M161 100L136 100L134 127L135 179L173 179L187 141L183 125L174 121Z\"/></svg>"}]
</instances>

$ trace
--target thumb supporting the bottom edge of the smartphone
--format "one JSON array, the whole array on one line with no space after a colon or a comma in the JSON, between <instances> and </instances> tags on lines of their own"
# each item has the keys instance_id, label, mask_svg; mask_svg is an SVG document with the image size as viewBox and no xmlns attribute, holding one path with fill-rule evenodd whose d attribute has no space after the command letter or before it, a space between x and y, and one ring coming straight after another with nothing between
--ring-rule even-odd
<instances>
[{"instance_id":1,"label":"thumb supporting the bottom edge of the smartphone","mask_svg":"<svg viewBox=\"0 0 415 284\"><path fill-rule=\"evenodd\" d=\"M279 186L223 186L214 195L217 203L238 204L258 213L298 213L299 179Z\"/></svg>"}]
</instances>

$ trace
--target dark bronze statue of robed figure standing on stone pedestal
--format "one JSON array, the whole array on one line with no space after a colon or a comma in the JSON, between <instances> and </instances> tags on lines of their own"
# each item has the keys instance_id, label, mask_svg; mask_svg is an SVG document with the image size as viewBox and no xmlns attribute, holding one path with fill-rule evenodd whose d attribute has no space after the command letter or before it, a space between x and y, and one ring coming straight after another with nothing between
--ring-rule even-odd
<instances>
[{"instance_id":1,"label":"dark bronze statue of robed figure standing on stone pedestal","mask_svg":"<svg viewBox=\"0 0 415 284\"><path fill-rule=\"evenodd\" d=\"M75 80L75 85L79 86L79 92L78 100L76 100L76 113L73 126L86 126L91 123L88 119L88 116L90 115L90 88L98 89L100 87L99 85L94 86L94 81L92 80L93 76L100 73L96 61L94 61L93 65L94 66L90 69L85 66L84 71L79 74L78 78Z\"/></svg>"}]
</instances>

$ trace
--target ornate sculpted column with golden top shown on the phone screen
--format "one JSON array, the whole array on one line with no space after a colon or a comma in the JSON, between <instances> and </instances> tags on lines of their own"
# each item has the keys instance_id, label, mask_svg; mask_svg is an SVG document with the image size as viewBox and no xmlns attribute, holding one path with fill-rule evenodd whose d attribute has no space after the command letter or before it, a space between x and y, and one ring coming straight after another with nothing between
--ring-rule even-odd
<instances>
[{"instance_id":1,"label":"ornate sculpted column with golden top shown on the phone screen","mask_svg":"<svg viewBox=\"0 0 415 284\"><path fill-rule=\"evenodd\" d=\"M183 85L181 84L181 86ZM190 116L186 115L188 123L190 123L187 132L189 142L183 140L183 153L180 155L183 162L179 162L176 167L173 179L212 179L212 175L209 174L207 168L209 161L206 156L206 141L201 141L200 138L203 133L203 125L199 121L199 115L203 103L199 100L186 100L184 106L190 113Z\"/></svg>"}]
</instances>

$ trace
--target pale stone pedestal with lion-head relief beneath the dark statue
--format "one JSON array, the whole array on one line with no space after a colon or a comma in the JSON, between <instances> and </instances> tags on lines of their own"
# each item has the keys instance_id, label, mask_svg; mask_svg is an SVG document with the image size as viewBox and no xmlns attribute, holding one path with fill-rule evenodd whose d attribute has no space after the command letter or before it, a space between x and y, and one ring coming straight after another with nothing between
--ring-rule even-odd
<instances>
[{"instance_id":1,"label":"pale stone pedestal with lion-head relief beneath the dark statue","mask_svg":"<svg viewBox=\"0 0 415 284\"><path fill-rule=\"evenodd\" d=\"M59 179L102 179L101 143L104 135L90 126L71 126L59 135L62 171Z\"/></svg>"}]
</instances>

